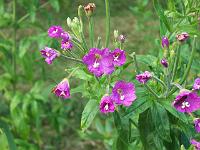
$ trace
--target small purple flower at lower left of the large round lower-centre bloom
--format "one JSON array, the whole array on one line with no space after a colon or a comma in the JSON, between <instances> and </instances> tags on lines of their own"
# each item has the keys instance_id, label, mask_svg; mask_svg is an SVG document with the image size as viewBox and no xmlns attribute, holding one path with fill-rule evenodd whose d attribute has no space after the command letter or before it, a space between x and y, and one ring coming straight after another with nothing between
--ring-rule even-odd
<instances>
[{"instance_id":1,"label":"small purple flower at lower left of the large round lower-centre bloom","mask_svg":"<svg viewBox=\"0 0 200 150\"><path fill-rule=\"evenodd\" d=\"M115 111L115 105L110 96L103 96L99 107L100 111L104 114Z\"/></svg>"}]
</instances>

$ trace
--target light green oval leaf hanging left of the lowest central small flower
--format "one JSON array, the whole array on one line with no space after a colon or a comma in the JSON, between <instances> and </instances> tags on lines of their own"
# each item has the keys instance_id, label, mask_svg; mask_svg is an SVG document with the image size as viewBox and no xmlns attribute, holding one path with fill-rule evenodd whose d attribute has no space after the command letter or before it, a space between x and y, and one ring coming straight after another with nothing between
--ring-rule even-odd
<instances>
[{"instance_id":1,"label":"light green oval leaf hanging left of the lowest central small flower","mask_svg":"<svg viewBox=\"0 0 200 150\"><path fill-rule=\"evenodd\" d=\"M98 112L98 103L95 100L89 100L81 116L81 129L85 131L92 123Z\"/></svg>"}]
</instances>

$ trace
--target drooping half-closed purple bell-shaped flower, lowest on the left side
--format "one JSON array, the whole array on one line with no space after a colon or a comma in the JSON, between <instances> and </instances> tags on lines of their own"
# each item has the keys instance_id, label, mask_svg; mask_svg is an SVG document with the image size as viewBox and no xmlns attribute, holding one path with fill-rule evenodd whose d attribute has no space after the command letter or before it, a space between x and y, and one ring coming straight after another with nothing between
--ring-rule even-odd
<instances>
[{"instance_id":1,"label":"drooping half-closed purple bell-shaped flower, lowest on the left side","mask_svg":"<svg viewBox=\"0 0 200 150\"><path fill-rule=\"evenodd\" d=\"M70 87L67 78L64 78L53 90L52 92L64 99L70 98Z\"/></svg>"}]
</instances>

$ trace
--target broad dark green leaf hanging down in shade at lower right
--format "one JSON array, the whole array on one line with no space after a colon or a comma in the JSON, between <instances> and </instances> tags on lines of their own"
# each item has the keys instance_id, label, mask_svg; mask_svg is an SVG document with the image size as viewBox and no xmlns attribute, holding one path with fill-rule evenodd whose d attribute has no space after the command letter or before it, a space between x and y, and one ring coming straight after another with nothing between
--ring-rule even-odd
<instances>
[{"instance_id":1,"label":"broad dark green leaf hanging down in shade at lower right","mask_svg":"<svg viewBox=\"0 0 200 150\"><path fill-rule=\"evenodd\" d=\"M151 107L151 116L152 122L154 123L155 129L157 134L163 140L171 142L170 137L170 124L169 124L169 117L167 115L167 111L164 107L155 102L154 107Z\"/></svg>"}]
</instances>

